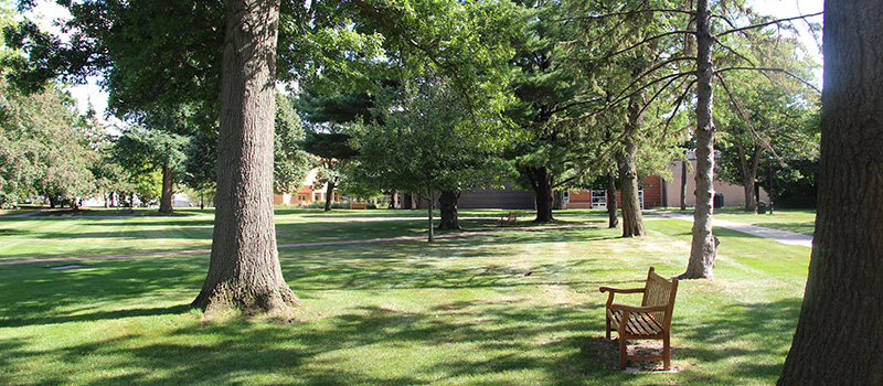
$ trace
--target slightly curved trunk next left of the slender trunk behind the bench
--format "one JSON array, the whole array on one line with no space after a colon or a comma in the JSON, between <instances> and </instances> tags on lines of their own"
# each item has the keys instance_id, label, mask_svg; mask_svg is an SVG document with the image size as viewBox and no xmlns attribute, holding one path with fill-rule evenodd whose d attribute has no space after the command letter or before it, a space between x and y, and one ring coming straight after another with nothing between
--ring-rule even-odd
<instances>
[{"instance_id":1,"label":"slightly curved trunk next left of the slender trunk behind the bench","mask_svg":"<svg viewBox=\"0 0 883 386\"><path fill-rule=\"evenodd\" d=\"M636 73L640 73L638 69ZM631 97L629 101L629 121L623 138L623 150L617 153L619 167L619 189L623 200L623 237L643 236L643 217L641 216L640 190L638 187L638 140L635 138L643 124L643 94Z\"/></svg>"}]
</instances>

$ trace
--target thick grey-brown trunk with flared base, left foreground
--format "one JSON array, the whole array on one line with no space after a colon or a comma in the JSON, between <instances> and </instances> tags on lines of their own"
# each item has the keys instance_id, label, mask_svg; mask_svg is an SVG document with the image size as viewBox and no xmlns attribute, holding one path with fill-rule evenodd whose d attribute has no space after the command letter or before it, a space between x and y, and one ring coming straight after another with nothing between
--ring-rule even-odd
<instances>
[{"instance_id":1,"label":"thick grey-brown trunk with flared base, left foreground","mask_svg":"<svg viewBox=\"0 0 883 386\"><path fill-rule=\"evenodd\" d=\"M193 301L211 317L238 309L290 317L273 218L273 125L279 0L226 6L217 206L209 275Z\"/></svg>"}]
</instances>

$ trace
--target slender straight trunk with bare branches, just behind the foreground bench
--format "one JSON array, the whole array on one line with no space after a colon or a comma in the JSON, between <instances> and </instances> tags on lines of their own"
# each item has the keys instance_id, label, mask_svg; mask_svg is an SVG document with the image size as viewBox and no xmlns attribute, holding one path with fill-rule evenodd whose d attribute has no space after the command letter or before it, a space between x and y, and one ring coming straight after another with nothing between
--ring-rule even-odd
<instances>
[{"instance_id":1,"label":"slender straight trunk with bare branches, just behind the foreground bench","mask_svg":"<svg viewBox=\"0 0 883 386\"><path fill-rule=\"evenodd\" d=\"M714 258L717 253L712 234L714 211L714 94L711 62L711 7L709 0L696 2L696 207L693 212L693 240L690 261L681 279L714 279Z\"/></svg>"}]
</instances>

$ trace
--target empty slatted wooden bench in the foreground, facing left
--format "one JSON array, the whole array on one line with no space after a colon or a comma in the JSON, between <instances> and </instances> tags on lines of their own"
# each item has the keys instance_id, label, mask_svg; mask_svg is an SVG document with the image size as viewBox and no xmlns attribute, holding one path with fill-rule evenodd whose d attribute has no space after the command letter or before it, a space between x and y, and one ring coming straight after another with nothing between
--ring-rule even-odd
<instances>
[{"instance_id":1,"label":"empty slatted wooden bench in the foreground, facing left","mask_svg":"<svg viewBox=\"0 0 883 386\"><path fill-rule=\"evenodd\" d=\"M662 361L664 369L671 369L671 311L674 308L674 294L678 292L678 279L670 281L653 272L653 267L647 272L647 283L643 288L618 289L600 287L602 292L610 292L607 297L607 339L610 331L619 335L619 368L626 368L626 362L632 361ZM614 303L616 293L643 293L641 307L631 307ZM628 340L662 340L662 355L638 356L628 355L626 341Z\"/></svg>"}]
</instances>

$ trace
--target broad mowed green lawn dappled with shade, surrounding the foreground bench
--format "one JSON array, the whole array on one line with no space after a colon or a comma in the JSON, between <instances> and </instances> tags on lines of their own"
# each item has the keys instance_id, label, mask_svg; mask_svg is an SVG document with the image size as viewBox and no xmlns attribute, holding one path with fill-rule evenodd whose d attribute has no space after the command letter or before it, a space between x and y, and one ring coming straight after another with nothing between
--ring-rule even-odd
<instances>
[{"instance_id":1,"label":"broad mowed green lawn dappled with shade, surrounding the foreground bench","mask_svg":"<svg viewBox=\"0 0 883 386\"><path fill-rule=\"evenodd\" d=\"M0 384L775 383L796 325L809 248L716 229L716 280L680 286L672 335L678 373L627 374L617 371L616 344L604 339L606 294L597 287L639 286L649 266L666 276L682 272L691 224L647 218L648 237L623 239L604 227L600 213L570 213L558 215L562 223L588 225L472 233L433 245L405 239L280 248L285 277L307 303L291 324L234 318L203 325L201 312L188 304L204 279L208 254L75 261L84 267L66 270L0 266ZM492 230L498 218L465 223ZM73 239L52 256L87 256L138 243L188 249L211 238L205 222L0 224L34 224L26 235L38 242ZM425 235L425 224L412 221L291 215L277 223L279 244ZM0 248L24 236L0 234ZM41 256L39 247L17 248L0 256Z\"/></svg>"}]
</instances>

